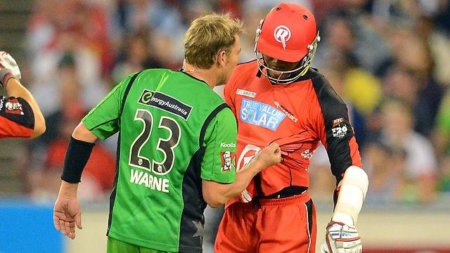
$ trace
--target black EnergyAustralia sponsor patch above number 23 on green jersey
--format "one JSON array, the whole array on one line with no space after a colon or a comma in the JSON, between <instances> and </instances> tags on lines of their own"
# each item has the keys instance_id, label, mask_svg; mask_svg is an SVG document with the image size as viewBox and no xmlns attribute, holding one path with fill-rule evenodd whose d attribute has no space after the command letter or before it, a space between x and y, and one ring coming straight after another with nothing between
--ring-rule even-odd
<instances>
[{"instance_id":1,"label":"black EnergyAustralia sponsor patch above number 23 on green jersey","mask_svg":"<svg viewBox=\"0 0 450 253\"><path fill-rule=\"evenodd\" d=\"M158 91L149 91L148 89L143 90L138 103L165 110L166 112L178 115L185 120L188 119L192 110L190 105L186 105L176 98L172 98L171 96L167 96L165 93Z\"/></svg>"}]
</instances>

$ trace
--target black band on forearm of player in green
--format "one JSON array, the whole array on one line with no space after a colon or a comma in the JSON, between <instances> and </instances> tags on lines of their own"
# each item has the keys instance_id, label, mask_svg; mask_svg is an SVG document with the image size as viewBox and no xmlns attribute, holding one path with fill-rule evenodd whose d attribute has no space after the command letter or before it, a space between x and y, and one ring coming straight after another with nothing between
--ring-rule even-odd
<instances>
[{"instance_id":1,"label":"black band on forearm of player in green","mask_svg":"<svg viewBox=\"0 0 450 253\"><path fill-rule=\"evenodd\" d=\"M61 179L68 183L79 183L81 181L84 166L91 156L94 145L94 143L79 141L72 136L70 137Z\"/></svg>"}]
</instances>

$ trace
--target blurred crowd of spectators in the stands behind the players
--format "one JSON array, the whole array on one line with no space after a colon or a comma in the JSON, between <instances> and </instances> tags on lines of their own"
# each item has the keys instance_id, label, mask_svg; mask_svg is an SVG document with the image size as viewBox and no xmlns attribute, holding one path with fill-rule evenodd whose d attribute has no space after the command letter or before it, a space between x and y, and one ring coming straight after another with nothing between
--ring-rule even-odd
<instances>
[{"instance_id":1,"label":"blurred crowd of spectators in the stands behind the players","mask_svg":"<svg viewBox=\"0 0 450 253\"><path fill-rule=\"evenodd\" d=\"M312 65L345 100L370 186L368 203L450 201L450 1L303 0L321 41ZM131 72L177 70L184 32L203 13L245 22L240 61L255 58L259 20L275 0L37 0L27 27L23 83L47 131L20 157L23 193L54 200L69 136L80 119ZM98 142L79 197L107 199L115 174L113 136ZM311 161L311 194L332 202L326 151Z\"/></svg>"}]
</instances>

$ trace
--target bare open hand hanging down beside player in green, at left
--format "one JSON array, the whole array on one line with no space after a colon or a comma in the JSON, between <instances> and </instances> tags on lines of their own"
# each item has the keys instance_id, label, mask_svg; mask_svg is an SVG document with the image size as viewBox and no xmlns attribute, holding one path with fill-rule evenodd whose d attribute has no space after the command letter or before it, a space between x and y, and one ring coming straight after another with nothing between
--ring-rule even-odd
<instances>
[{"instance_id":1,"label":"bare open hand hanging down beside player in green, at left","mask_svg":"<svg viewBox=\"0 0 450 253\"><path fill-rule=\"evenodd\" d=\"M63 235L75 239L75 226L82 229L82 210L76 198L58 196L53 208L53 224Z\"/></svg>"}]
</instances>

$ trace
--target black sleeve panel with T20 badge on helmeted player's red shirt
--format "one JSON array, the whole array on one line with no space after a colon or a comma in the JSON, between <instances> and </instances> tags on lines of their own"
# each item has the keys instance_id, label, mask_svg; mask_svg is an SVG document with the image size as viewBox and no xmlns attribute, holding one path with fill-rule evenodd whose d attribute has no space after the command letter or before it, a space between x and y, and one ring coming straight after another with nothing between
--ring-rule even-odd
<instances>
[{"instance_id":1,"label":"black sleeve panel with T20 badge on helmeted player's red shirt","mask_svg":"<svg viewBox=\"0 0 450 253\"><path fill-rule=\"evenodd\" d=\"M353 136L353 130L349 123L347 105L322 74L316 72L316 77L311 80L323 114L331 171L340 181L341 174L352 165L349 138Z\"/></svg>"}]
</instances>

